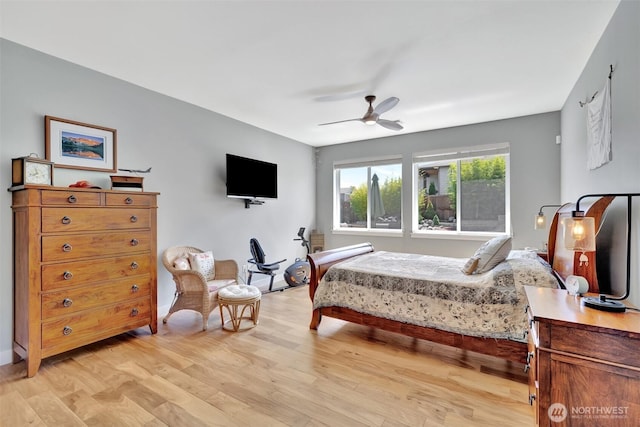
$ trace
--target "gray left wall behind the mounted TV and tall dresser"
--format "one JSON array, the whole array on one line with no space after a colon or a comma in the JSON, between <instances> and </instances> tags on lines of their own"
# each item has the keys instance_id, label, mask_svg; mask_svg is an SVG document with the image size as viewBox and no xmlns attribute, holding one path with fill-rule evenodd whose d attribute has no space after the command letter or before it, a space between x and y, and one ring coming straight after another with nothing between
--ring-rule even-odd
<instances>
[{"instance_id":1,"label":"gray left wall behind the mounted TV and tall dresser","mask_svg":"<svg viewBox=\"0 0 640 427\"><path fill-rule=\"evenodd\" d=\"M0 365L11 361L13 331L11 158L44 157L44 115L115 128L118 166L153 167L145 190L160 192L158 250L211 249L240 265L257 237L268 259L303 256L299 226L314 227L313 149L219 114L0 39ZM278 163L279 197L244 208L225 196L225 153ZM295 161L292 161L295 159ZM55 170L55 185L80 179L110 187L109 174ZM265 276L262 276L263 278ZM158 265L164 314L175 290Z\"/></svg>"}]
</instances>

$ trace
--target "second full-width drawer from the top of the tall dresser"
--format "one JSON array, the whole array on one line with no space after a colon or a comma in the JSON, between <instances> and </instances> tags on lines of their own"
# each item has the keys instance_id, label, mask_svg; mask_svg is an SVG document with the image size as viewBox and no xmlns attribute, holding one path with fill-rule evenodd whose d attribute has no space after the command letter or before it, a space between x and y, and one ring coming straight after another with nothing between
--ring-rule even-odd
<instances>
[{"instance_id":1,"label":"second full-width drawer from the top of the tall dresser","mask_svg":"<svg viewBox=\"0 0 640 427\"><path fill-rule=\"evenodd\" d=\"M66 261L80 258L125 255L151 249L149 231L68 234L42 236L42 260Z\"/></svg>"}]
</instances>

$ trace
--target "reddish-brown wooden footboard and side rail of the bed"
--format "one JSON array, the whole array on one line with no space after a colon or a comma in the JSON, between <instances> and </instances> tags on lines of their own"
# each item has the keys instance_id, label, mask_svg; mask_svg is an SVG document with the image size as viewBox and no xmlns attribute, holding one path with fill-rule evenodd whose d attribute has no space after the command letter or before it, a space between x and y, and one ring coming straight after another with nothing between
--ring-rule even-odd
<instances>
[{"instance_id":1,"label":"reddish-brown wooden footboard and side rail of the bed","mask_svg":"<svg viewBox=\"0 0 640 427\"><path fill-rule=\"evenodd\" d=\"M316 293L320 279L327 272L329 267L340 261L354 256L373 252L371 243L346 246L324 252L317 252L308 256L311 265L311 281L309 283L309 297L311 301ZM357 312L344 307L324 307L313 310L311 316L311 329L318 329L322 316L333 317L360 325L383 329L385 331L396 332L414 338L420 338L439 344L457 347L463 350L475 351L501 359L524 363L527 355L527 344L517 341L500 340L494 338L479 338L454 332L442 331L440 329L411 325L395 320L384 319Z\"/></svg>"}]
</instances>

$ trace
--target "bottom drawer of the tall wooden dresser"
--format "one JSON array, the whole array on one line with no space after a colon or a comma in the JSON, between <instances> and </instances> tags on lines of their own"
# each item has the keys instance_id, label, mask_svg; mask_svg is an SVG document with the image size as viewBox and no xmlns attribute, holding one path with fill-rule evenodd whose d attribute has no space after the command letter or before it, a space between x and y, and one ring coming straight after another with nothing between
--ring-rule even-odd
<instances>
[{"instance_id":1,"label":"bottom drawer of the tall wooden dresser","mask_svg":"<svg viewBox=\"0 0 640 427\"><path fill-rule=\"evenodd\" d=\"M150 323L150 298L139 298L43 322L42 356L58 354Z\"/></svg>"}]
</instances>

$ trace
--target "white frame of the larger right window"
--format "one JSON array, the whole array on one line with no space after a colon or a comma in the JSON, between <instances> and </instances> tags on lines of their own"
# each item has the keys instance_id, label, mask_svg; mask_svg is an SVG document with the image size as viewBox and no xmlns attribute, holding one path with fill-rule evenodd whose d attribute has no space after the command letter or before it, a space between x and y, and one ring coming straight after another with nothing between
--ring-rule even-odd
<instances>
[{"instance_id":1,"label":"white frame of the larger right window","mask_svg":"<svg viewBox=\"0 0 640 427\"><path fill-rule=\"evenodd\" d=\"M486 240L490 237L511 234L511 161L510 161L510 144L508 142L477 145L470 147L449 148L442 150L431 150L426 152L414 153L412 155L412 187L411 187L411 237L412 238L442 238L442 239L460 239L460 240ZM483 157L504 156L505 159L505 231L461 231L460 221L456 222L456 231L442 230L420 230L419 229L419 206L418 191L420 185L420 177L418 171L421 164L426 162L437 162L455 160L458 164L456 168L457 194L456 199L460 200L460 162ZM460 217L461 203L456 204L456 218Z\"/></svg>"}]
</instances>

